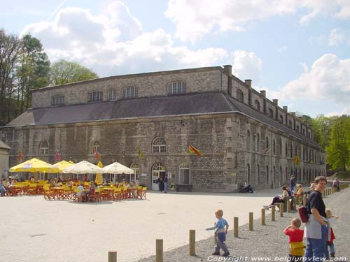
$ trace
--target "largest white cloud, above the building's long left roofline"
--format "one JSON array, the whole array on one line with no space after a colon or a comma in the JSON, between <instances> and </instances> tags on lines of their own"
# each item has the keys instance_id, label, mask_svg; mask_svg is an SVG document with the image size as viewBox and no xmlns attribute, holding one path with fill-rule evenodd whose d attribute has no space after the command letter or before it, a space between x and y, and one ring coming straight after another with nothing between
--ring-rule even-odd
<instances>
[{"instance_id":1,"label":"largest white cloud, above the building's long left roofline","mask_svg":"<svg viewBox=\"0 0 350 262\"><path fill-rule=\"evenodd\" d=\"M222 48L190 50L175 46L162 29L144 32L142 24L121 1L112 2L103 15L82 8L59 10L54 22L29 24L22 34L39 38L51 61L77 61L99 73L116 75L136 71L209 66L228 54Z\"/></svg>"}]
</instances>

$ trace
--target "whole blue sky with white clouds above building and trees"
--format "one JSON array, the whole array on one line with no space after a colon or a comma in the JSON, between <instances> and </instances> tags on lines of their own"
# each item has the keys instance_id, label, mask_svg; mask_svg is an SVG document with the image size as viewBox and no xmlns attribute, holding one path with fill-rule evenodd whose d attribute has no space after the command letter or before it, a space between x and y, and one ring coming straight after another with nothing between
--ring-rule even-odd
<instances>
[{"instance_id":1,"label":"whole blue sky with white clouds above building and trees","mask_svg":"<svg viewBox=\"0 0 350 262\"><path fill-rule=\"evenodd\" d=\"M100 77L232 65L288 111L350 115L349 0L0 0L0 28Z\"/></svg>"}]
</instances>

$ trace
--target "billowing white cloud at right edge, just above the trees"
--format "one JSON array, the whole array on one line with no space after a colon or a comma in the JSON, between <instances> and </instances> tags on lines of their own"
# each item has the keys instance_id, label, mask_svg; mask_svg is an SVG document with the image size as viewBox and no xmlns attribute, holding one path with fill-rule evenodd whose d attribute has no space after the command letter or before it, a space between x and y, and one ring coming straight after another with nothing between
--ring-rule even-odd
<instances>
[{"instance_id":1,"label":"billowing white cloud at right edge, just above the trees","mask_svg":"<svg viewBox=\"0 0 350 262\"><path fill-rule=\"evenodd\" d=\"M281 99L334 101L346 105L350 99L350 59L324 54L314 61L310 70L289 82L280 91Z\"/></svg>"}]
</instances>

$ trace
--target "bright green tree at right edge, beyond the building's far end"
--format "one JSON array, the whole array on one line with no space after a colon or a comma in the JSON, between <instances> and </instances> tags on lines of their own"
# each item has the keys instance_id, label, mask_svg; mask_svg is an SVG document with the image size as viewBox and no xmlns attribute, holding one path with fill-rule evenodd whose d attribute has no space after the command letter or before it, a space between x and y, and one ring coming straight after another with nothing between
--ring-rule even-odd
<instances>
[{"instance_id":1,"label":"bright green tree at right edge, beyond the building's far end","mask_svg":"<svg viewBox=\"0 0 350 262\"><path fill-rule=\"evenodd\" d=\"M346 170L350 163L350 117L337 117L330 130L327 161L333 170Z\"/></svg>"}]
</instances>

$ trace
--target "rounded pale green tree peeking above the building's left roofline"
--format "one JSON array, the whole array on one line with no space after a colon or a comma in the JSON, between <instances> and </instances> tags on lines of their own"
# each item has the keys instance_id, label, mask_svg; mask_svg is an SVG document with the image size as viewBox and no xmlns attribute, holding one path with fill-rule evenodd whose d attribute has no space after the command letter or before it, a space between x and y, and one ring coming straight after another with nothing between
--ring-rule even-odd
<instances>
[{"instance_id":1,"label":"rounded pale green tree peeking above the building's left roofline","mask_svg":"<svg viewBox=\"0 0 350 262\"><path fill-rule=\"evenodd\" d=\"M50 85L63 85L99 78L97 73L75 62L59 60L50 68Z\"/></svg>"}]
</instances>

